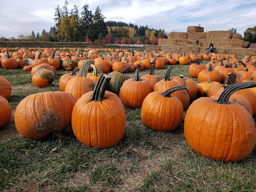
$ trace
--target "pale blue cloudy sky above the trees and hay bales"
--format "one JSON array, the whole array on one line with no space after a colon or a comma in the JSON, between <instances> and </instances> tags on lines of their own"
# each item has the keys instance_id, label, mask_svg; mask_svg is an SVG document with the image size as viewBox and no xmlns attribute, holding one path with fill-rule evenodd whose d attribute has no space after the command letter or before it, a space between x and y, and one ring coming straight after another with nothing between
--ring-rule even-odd
<instances>
[{"instance_id":1,"label":"pale blue cloudy sky above the trees and hay bales","mask_svg":"<svg viewBox=\"0 0 256 192\"><path fill-rule=\"evenodd\" d=\"M54 26L54 8L65 0L13 0L1 3L0 36L41 33ZM201 24L205 30L244 30L256 25L256 0L67 0L68 8L87 3L94 13L101 9L105 20L131 22L165 32L186 32L187 26ZM5 1L6 2L6 1Z\"/></svg>"}]
</instances>

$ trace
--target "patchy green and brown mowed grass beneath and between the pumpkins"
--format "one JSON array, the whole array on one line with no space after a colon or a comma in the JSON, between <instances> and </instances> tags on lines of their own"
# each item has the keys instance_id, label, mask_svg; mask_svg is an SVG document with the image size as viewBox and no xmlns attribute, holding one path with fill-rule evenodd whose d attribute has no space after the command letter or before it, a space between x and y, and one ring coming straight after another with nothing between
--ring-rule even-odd
<instances>
[{"instance_id":1,"label":"patchy green and brown mowed grass beneath and between the pumpkins","mask_svg":"<svg viewBox=\"0 0 256 192\"><path fill-rule=\"evenodd\" d=\"M207 63L203 61L202 63ZM168 65L155 69L164 78ZM189 77L189 65L174 65L171 76ZM14 114L25 96L60 90L57 71L52 85L38 88L30 72L5 70L0 75L12 84ZM149 69L140 71L140 76ZM128 73L134 77L134 73ZM196 81L198 82L198 81ZM224 163L195 153L183 133L183 119L172 132L154 131L141 121L140 108L125 108L126 127L114 146L100 149L53 134L40 140L14 134L11 122L0 130L0 191L256 191L256 148L243 160ZM3 133L13 131L8 139Z\"/></svg>"}]
</instances>

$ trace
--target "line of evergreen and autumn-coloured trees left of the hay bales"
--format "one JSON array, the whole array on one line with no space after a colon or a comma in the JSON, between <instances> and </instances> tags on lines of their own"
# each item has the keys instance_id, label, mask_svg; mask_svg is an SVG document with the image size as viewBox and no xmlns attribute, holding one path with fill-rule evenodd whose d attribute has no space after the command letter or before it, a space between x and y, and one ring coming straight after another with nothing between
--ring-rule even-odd
<instances>
[{"instance_id":1,"label":"line of evergreen and autumn-coloured trees left of the hay bales","mask_svg":"<svg viewBox=\"0 0 256 192\"><path fill-rule=\"evenodd\" d=\"M110 42L110 43L147 43L154 38L166 38L164 29L154 29L146 26L138 26L122 21L104 21L105 16L99 6L94 13L84 4L79 7L73 5L68 9L68 2L62 7L57 5L54 9L54 22L49 32L44 29L39 35L41 41L86 41L86 42ZM38 34L38 32L37 32ZM32 34L34 35L33 31ZM37 38L38 36L36 36Z\"/></svg>"}]
</instances>

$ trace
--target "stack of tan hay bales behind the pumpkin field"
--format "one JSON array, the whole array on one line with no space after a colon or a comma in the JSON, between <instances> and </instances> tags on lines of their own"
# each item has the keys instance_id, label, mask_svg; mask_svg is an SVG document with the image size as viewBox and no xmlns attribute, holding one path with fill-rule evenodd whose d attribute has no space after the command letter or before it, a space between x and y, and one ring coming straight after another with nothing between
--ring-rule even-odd
<instances>
[{"instance_id":1,"label":"stack of tan hay bales behind the pumpkin field","mask_svg":"<svg viewBox=\"0 0 256 192\"><path fill-rule=\"evenodd\" d=\"M196 47L196 39L199 40L199 47ZM240 34L226 30L203 32L203 27L188 26L187 32L170 32L167 39L158 40L158 46L163 51L204 52L209 49L210 43L213 43L215 52L256 55L256 50L248 49L250 43L241 40Z\"/></svg>"}]
</instances>

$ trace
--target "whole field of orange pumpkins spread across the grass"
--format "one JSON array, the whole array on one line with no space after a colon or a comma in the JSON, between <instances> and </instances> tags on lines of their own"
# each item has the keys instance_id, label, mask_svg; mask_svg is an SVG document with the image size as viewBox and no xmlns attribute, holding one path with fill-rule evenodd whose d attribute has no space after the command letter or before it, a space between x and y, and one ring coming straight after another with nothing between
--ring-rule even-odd
<instances>
[{"instance_id":1,"label":"whole field of orange pumpkins spread across the grass","mask_svg":"<svg viewBox=\"0 0 256 192\"><path fill-rule=\"evenodd\" d=\"M16 47L0 48L0 66L1 143L56 135L104 153L138 128L154 135L144 140L179 135L198 159L255 147L256 55Z\"/></svg>"}]
</instances>

